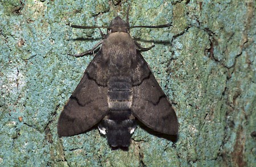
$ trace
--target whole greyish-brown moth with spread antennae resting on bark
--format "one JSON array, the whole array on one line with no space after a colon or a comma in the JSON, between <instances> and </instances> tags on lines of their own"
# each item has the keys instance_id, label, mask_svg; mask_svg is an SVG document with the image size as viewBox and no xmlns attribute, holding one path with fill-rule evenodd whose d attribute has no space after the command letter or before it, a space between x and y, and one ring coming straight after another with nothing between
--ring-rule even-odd
<instances>
[{"instance_id":1,"label":"whole greyish-brown moth with spread antennae resting on bark","mask_svg":"<svg viewBox=\"0 0 256 167\"><path fill-rule=\"evenodd\" d=\"M58 135L73 136L98 125L110 146L129 147L137 119L154 131L176 135L175 110L141 55L154 45L143 48L129 33L130 28L163 28L170 24L130 27L127 12L126 22L117 16L109 27L72 27L107 28L108 33L104 35L100 29L102 41L75 55L92 53L101 45L60 114Z\"/></svg>"}]
</instances>

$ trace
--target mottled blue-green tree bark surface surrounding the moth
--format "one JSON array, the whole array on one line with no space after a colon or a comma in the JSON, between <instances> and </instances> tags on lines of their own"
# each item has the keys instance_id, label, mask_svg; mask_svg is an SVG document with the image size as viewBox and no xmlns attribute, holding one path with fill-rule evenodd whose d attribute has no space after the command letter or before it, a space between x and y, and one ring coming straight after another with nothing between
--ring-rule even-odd
<instances>
[{"instance_id":1,"label":"mottled blue-green tree bark surface surrounding the moth","mask_svg":"<svg viewBox=\"0 0 256 167\"><path fill-rule=\"evenodd\" d=\"M0 1L0 166L253 166L255 1L129 1L131 35L174 108L176 143L139 126L128 151L97 129L59 138L57 119L93 55L98 29L127 2Z\"/></svg>"}]
</instances>

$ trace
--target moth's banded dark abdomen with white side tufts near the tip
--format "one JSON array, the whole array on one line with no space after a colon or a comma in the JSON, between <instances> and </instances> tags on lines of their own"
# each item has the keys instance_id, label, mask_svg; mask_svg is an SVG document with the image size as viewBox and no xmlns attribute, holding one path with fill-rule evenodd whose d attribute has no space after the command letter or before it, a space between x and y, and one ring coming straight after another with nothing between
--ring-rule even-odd
<instances>
[{"instance_id":1,"label":"moth's banded dark abdomen with white side tufts near the tip","mask_svg":"<svg viewBox=\"0 0 256 167\"><path fill-rule=\"evenodd\" d=\"M131 114L133 89L128 78L113 77L108 83L109 114L98 128L106 134L112 147L128 147L131 134L136 127L135 117Z\"/></svg>"}]
</instances>

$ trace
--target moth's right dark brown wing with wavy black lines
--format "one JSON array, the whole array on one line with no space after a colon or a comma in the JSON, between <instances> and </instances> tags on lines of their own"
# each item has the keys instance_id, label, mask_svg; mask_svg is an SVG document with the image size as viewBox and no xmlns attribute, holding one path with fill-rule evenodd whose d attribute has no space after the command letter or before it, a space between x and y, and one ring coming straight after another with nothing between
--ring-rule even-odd
<instances>
[{"instance_id":1,"label":"moth's right dark brown wing with wavy black lines","mask_svg":"<svg viewBox=\"0 0 256 167\"><path fill-rule=\"evenodd\" d=\"M143 72L133 85L134 97L131 111L150 129L164 134L176 135L179 129L177 116L146 61L140 53L137 70Z\"/></svg>"}]
</instances>

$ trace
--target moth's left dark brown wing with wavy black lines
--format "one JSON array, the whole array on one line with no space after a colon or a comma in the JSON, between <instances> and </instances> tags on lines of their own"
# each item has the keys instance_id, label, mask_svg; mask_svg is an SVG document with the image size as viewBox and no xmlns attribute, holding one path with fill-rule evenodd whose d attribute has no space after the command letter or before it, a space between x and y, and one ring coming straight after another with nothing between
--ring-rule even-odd
<instances>
[{"instance_id":1,"label":"moth's left dark brown wing with wavy black lines","mask_svg":"<svg viewBox=\"0 0 256 167\"><path fill-rule=\"evenodd\" d=\"M99 61L100 53L89 64L64 106L57 126L59 136L81 134L100 122L108 113L107 87L105 80L102 80L105 76L99 76L100 72L97 72L99 69L104 70L104 67L98 64Z\"/></svg>"}]
</instances>

